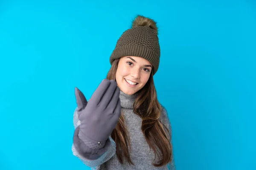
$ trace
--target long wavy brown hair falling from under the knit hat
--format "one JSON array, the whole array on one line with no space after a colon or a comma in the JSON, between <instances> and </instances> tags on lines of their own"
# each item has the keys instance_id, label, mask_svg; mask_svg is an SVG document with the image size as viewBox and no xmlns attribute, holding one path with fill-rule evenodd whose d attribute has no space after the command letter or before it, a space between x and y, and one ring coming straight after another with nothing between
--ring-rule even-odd
<instances>
[{"instance_id":1,"label":"long wavy brown hair falling from under the knit hat","mask_svg":"<svg viewBox=\"0 0 256 170\"><path fill-rule=\"evenodd\" d=\"M116 59L107 74L107 79L116 80L116 70L119 59ZM153 72L153 71L152 71ZM142 118L141 130L145 136L148 145L153 149L159 162L154 166L160 167L172 160L172 144L170 142L171 134L159 120L161 114L161 105L157 100L157 93L154 87L153 74L148 79L145 86L138 91L134 102L134 113ZM166 130L164 130L164 128ZM123 113L115 129L111 133L111 138L116 142L116 155L120 163L123 163L123 157L130 164L133 164L129 155L130 138L125 126Z\"/></svg>"}]
</instances>

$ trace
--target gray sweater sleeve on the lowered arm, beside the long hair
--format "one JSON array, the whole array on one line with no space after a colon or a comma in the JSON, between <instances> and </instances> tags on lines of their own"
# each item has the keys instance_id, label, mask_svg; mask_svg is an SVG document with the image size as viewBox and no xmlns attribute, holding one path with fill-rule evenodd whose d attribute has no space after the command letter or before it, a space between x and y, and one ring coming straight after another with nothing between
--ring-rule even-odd
<instances>
[{"instance_id":1,"label":"gray sweater sleeve on the lowered arm, beside the long hair","mask_svg":"<svg viewBox=\"0 0 256 170\"><path fill-rule=\"evenodd\" d=\"M172 144L172 127L171 127L171 123L169 121L169 117L168 117L166 108L164 108L163 106L162 106L162 123L169 130L169 135L170 135L170 140L171 140L170 142ZM172 149L172 161L169 162L168 168L169 168L169 170L176 170L173 149Z\"/></svg>"}]
</instances>

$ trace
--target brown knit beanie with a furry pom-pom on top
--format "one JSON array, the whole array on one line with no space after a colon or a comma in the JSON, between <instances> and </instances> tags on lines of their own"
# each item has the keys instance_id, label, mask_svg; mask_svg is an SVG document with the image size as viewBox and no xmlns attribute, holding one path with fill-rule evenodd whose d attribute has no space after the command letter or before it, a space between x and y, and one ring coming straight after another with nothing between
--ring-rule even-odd
<instances>
[{"instance_id":1,"label":"brown knit beanie with a furry pom-pom on top","mask_svg":"<svg viewBox=\"0 0 256 170\"><path fill-rule=\"evenodd\" d=\"M116 43L110 56L110 63L115 59L135 56L147 59L153 65L153 75L160 62L160 46L157 37L157 26L154 20L138 15L132 27L126 30Z\"/></svg>"}]
</instances>

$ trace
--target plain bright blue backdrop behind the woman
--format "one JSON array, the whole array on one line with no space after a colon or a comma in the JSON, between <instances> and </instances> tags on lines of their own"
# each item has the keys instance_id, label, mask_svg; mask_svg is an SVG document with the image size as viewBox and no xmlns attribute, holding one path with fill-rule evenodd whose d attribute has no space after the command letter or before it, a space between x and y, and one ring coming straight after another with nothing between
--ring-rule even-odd
<instances>
[{"instance_id":1,"label":"plain bright blue backdrop behind the woman","mask_svg":"<svg viewBox=\"0 0 256 170\"><path fill-rule=\"evenodd\" d=\"M254 0L0 1L1 170L89 169L74 87L90 98L136 14L159 26L177 170L256 170Z\"/></svg>"}]
</instances>

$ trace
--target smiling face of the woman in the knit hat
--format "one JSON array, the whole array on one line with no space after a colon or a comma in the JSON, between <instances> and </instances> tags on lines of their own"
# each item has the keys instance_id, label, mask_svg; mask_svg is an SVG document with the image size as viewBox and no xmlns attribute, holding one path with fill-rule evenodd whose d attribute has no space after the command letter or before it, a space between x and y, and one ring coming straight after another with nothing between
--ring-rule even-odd
<instances>
[{"instance_id":1,"label":"smiling face of the woman in the knit hat","mask_svg":"<svg viewBox=\"0 0 256 170\"><path fill-rule=\"evenodd\" d=\"M135 94L148 82L152 67L151 63L142 57L122 57L116 70L117 86L125 94Z\"/></svg>"}]
</instances>

